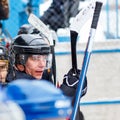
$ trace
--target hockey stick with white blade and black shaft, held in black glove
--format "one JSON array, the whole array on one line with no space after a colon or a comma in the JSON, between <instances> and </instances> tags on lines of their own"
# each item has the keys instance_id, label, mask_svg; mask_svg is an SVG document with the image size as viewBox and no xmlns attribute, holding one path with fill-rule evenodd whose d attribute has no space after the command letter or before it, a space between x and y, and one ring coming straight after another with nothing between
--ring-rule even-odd
<instances>
[{"instance_id":1,"label":"hockey stick with white blade and black shaft, held in black glove","mask_svg":"<svg viewBox=\"0 0 120 120\"><path fill-rule=\"evenodd\" d=\"M71 58L72 69L74 74L77 70L77 55L76 55L76 43L80 29L83 25L92 17L95 8L95 2L90 2L84 9L82 9L78 15L74 18L70 25L70 38L71 38Z\"/></svg>"}]
</instances>

